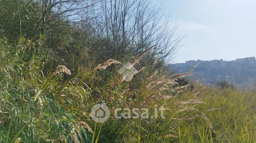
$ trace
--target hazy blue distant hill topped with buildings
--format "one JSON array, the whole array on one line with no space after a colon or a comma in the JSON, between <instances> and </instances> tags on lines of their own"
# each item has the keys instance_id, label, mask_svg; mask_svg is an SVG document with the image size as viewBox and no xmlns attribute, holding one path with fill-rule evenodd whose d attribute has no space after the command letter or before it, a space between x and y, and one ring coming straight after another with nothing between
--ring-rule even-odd
<instances>
[{"instance_id":1,"label":"hazy blue distant hill topped with buildings","mask_svg":"<svg viewBox=\"0 0 256 143\"><path fill-rule=\"evenodd\" d=\"M212 61L191 60L168 66L176 73L184 73L188 72L196 63L199 63L199 65L190 77L193 80L200 80L202 84L214 85L218 80L228 80L240 87L256 86L255 57L234 61L223 61L223 59Z\"/></svg>"}]
</instances>

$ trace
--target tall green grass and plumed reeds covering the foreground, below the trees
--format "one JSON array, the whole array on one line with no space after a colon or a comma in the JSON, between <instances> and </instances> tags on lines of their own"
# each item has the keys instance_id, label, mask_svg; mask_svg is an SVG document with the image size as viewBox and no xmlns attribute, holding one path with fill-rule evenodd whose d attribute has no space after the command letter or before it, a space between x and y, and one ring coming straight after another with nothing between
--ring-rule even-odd
<instances>
[{"instance_id":1,"label":"tall green grass and plumed reeds covering the foreground, below the trees","mask_svg":"<svg viewBox=\"0 0 256 143\"><path fill-rule=\"evenodd\" d=\"M68 68L45 66L50 58L43 41L0 40L0 143L256 143L255 91L174 87L189 74L166 77L168 70L154 68L157 61L130 82L113 60L68 75ZM111 113L104 123L90 117L98 103ZM113 116L115 108L152 111L155 105L166 109L165 119Z\"/></svg>"}]
</instances>

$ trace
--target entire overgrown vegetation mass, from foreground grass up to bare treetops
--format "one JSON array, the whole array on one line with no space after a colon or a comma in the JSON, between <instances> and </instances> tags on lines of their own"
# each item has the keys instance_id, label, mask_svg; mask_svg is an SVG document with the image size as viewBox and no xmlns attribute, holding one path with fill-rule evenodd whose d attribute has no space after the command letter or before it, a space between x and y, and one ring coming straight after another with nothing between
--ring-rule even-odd
<instances>
[{"instance_id":1,"label":"entire overgrown vegetation mass, from foreground grass up to bare treetops","mask_svg":"<svg viewBox=\"0 0 256 143\"><path fill-rule=\"evenodd\" d=\"M195 66L174 75L180 39L163 17L147 0L0 0L0 143L254 143L256 92L184 79ZM90 117L98 103L104 123ZM156 105L165 118L113 116Z\"/></svg>"}]
</instances>

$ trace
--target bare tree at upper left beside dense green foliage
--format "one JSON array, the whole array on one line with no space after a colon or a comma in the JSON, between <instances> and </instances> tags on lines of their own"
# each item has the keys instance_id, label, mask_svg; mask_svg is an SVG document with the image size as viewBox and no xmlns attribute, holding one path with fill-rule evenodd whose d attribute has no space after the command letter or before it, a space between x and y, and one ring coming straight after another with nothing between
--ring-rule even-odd
<instances>
[{"instance_id":1,"label":"bare tree at upper left beside dense green foliage","mask_svg":"<svg viewBox=\"0 0 256 143\"><path fill-rule=\"evenodd\" d=\"M81 22L81 16L84 15L86 9L95 5L98 0L37 0L36 2L41 3L42 6L41 19L39 20L42 26L38 26L38 31L47 33L48 45L50 46L53 26L63 24L61 21Z\"/></svg>"}]
</instances>

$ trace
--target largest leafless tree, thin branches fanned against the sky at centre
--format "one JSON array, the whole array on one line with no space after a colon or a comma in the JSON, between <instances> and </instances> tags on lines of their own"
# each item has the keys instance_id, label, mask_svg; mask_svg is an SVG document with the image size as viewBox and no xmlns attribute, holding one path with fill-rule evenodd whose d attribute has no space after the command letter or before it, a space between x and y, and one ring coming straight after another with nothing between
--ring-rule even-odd
<instances>
[{"instance_id":1,"label":"largest leafless tree, thin branches fanned against the sky at centre","mask_svg":"<svg viewBox=\"0 0 256 143\"><path fill-rule=\"evenodd\" d=\"M174 39L177 26L169 27L171 16L149 0L102 0L93 10L95 35L112 38L120 55L156 45L150 54L170 61L180 46L182 38Z\"/></svg>"}]
</instances>

